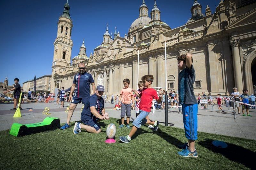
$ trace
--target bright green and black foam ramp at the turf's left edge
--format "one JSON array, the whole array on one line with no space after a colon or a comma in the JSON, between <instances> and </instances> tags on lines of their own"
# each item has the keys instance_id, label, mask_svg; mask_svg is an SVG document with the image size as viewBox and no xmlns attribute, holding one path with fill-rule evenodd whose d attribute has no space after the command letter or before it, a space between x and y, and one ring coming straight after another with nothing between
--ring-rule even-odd
<instances>
[{"instance_id":1,"label":"bright green and black foam ramp at the turf's left edge","mask_svg":"<svg viewBox=\"0 0 256 170\"><path fill-rule=\"evenodd\" d=\"M43 131L60 128L60 119L57 117L46 117L43 122L32 124L12 124L10 135L20 137Z\"/></svg>"}]
</instances>

